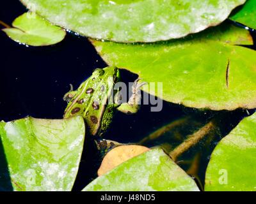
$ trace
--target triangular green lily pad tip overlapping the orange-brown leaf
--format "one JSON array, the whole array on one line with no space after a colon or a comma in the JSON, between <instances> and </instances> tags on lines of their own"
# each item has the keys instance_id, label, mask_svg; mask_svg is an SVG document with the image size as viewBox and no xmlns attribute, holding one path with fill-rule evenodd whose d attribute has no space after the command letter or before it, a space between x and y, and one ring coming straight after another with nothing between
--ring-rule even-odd
<instances>
[{"instance_id":1,"label":"triangular green lily pad tip overlapping the orange-brown leaf","mask_svg":"<svg viewBox=\"0 0 256 204\"><path fill-rule=\"evenodd\" d=\"M199 191L163 150L133 157L93 180L83 191Z\"/></svg>"}]
</instances>

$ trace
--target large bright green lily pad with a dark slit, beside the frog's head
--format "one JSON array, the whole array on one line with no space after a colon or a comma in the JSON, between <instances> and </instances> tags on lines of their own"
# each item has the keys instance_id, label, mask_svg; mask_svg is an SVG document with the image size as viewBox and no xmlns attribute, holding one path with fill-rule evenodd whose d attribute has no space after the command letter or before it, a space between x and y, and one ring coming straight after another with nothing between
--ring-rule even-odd
<instances>
[{"instance_id":1,"label":"large bright green lily pad with a dark slit, beside the frog's head","mask_svg":"<svg viewBox=\"0 0 256 204\"><path fill-rule=\"evenodd\" d=\"M237 46L253 44L245 29L222 24L184 40L92 43L109 65L163 83L163 92L143 90L166 101L212 110L256 107L256 52Z\"/></svg>"}]
</instances>

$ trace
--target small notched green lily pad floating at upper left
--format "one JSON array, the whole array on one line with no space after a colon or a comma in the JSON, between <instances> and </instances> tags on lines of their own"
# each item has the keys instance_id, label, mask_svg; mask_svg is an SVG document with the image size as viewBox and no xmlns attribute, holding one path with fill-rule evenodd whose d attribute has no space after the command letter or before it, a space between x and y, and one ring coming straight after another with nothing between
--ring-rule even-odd
<instances>
[{"instance_id":1,"label":"small notched green lily pad floating at upper left","mask_svg":"<svg viewBox=\"0 0 256 204\"><path fill-rule=\"evenodd\" d=\"M59 43L65 38L66 31L35 13L24 13L16 18L13 27L3 29L12 40L31 46L46 46Z\"/></svg>"}]
</instances>

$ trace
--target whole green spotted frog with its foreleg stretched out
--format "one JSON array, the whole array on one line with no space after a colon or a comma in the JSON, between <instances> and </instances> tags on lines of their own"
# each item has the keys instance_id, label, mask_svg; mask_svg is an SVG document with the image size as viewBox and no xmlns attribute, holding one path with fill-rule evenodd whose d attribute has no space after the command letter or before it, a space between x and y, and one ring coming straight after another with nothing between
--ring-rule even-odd
<instances>
[{"instance_id":1,"label":"whole green spotted frog with its foreleg stretched out","mask_svg":"<svg viewBox=\"0 0 256 204\"><path fill-rule=\"evenodd\" d=\"M141 95L138 78L132 86L132 96L127 103L120 103L120 92L114 86L120 82L120 71L116 67L95 69L90 78L76 91L71 90L64 96L68 102L64 118L82 115L90 135L102 136L109 128L115 110L131 114L138 112Z\"/></svg>"}]
</instances>

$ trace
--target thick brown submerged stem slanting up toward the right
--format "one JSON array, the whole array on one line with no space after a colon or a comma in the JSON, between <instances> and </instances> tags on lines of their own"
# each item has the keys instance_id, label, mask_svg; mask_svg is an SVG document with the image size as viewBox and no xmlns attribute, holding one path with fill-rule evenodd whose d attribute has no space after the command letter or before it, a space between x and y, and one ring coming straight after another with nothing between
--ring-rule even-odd
<instances>
[{"instance_id":1,"label":"thick brown submerged stem slanting up toward the right","mask_svg":"<svg viewBox=\"0 0 256 204\"><path fill-rule=\"evenodd\" d=\"M173 161L176 161L177 158L189 150L191 147L196 145L200 140L202 140L205 136L210 133L210 131L216 128L214 120L211 120L201 129L199 129L196 133L189 136L184 142L182 142L178 147L176 147L172 152L170 152L169 156L172 157Z\"/></svg>"}]
</instances>

